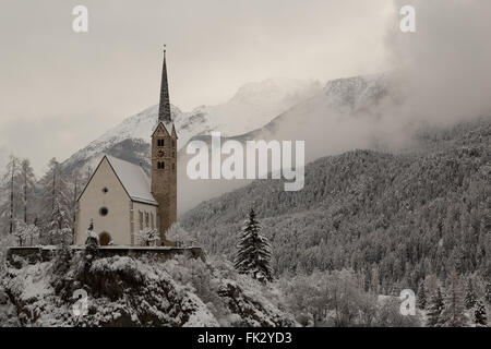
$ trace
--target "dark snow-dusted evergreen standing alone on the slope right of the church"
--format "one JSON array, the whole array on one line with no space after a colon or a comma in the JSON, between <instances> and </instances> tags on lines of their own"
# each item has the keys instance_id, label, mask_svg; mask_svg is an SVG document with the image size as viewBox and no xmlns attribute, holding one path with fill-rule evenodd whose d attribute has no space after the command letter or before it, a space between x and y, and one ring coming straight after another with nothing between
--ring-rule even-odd
<instances>
[{"instance_id":1,"label":"dark snow-dusted evergreen standing alone on the slope right of the church","mask_svg":"<svg viewBox=\"0 0 491 349\"><path fill-rule=\"evenodd\" d=\"M237 254L233 261L236 269L241 274L249 274L253 278L265 282L273 280L271 267L272 249L270 241L261 234L261 227L251 208L249 219L242 229L237 243Z\"/></svg>"}]
</instances>

